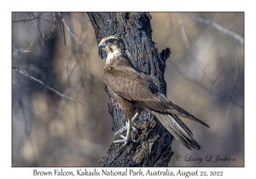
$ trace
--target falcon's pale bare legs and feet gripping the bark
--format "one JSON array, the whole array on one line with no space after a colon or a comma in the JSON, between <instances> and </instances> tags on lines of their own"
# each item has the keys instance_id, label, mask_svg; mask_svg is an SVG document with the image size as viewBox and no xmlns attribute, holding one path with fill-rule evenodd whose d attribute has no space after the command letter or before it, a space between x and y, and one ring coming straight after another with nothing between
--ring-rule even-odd
<instances>
[{"instance_id":1,"label":"falcon's pale bare legs and feet gripping the bark","mask_svg":"<svg viewBox=\"0 0 256 179\"><path fill-rule=\"evenodd\" d=\"M129 141L137 142L137 141L131 139L131 136L130 136L130 134L131 134L131 129L132 129L132 130L135 130L135 132L137 133L137 129L136 129L134 126L132 126L132 122L137 118L137 115L138 115L138 113L136 113L136 114L134 115L134 117L131 118L131 120L128 119L128 122L126 123L125 127L121 128L119 131L117 131L117 132L114 134L114 135L116 135L116 134L119 134L119 133L121 133L121 132L127 130L126 136L120 135L120 136L123 138L123 140L113 141L113 143L125 142L125 144L123 145L123 146L125 146L125 145L128 144Z\"/></svg>"}]
</instances>

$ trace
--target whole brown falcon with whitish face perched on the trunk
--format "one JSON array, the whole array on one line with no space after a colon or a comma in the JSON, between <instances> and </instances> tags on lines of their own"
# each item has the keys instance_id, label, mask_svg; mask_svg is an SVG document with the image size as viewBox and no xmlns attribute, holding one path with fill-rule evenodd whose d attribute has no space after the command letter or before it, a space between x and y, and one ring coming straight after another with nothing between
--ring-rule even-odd
<instances>
[{"instance_id":1,"label":"whole brown falcon with whitish face perched on the trunk","mask_svg":"<svg viewBox=\"0 0 256 179\"><path fill-rule=\"evenodd\" d=\"M127 130L126 136L121 136L124 139L113 142L125 142L127 144L129 141L134 141L131 139L130 133L131 130L137 131L132 126L132 122L138 116L136 111L136 107L138 107L140 112L147 110L158 118L166 130L185 147L190 150L192 148L199 150L201 146L195 141L192 132L177 116L209 126L161 94L154 82L146 74L132 66L131 61L122 55L121 43L122 40L119 36L102 38L101 43L99 43L99 48L108 54L104 66L103 82L107 84L108 89L113 91L124 117L128 120L125 127L116 133L120 134Z\"/></svg>"}]
</instances>

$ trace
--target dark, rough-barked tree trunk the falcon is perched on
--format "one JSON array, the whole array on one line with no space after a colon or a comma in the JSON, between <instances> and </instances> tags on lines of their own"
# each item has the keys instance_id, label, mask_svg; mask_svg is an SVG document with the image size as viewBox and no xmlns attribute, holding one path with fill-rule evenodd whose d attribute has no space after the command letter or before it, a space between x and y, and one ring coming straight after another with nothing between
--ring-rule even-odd
<instances>
[{"instance_id":1,"label":"dark, rough-barked tree trunk the falcon is perched on","mask_svg":"<svg viewBox=\"0 0 256 179\"><path fill-rule=\"evenodd\" d=\"M148 13L88 13L96 33L97 43L109 35L121 35L127 58L166 95L164 72L166 59L170 56L169 48L161 53L154 47L152 41L151 16ZM99 49L101 58L106 59L106 53ZM103 69L103 66L102 66ZM118 131L125 125L125 118L119 108L113 93L105 86L108 94L108 110L113 118L113 130ZM167 166L172 157L173 136L154 116L144 112L134 122L137 135L132 134L137 143L111 144L108 153L99 160L98 166ZM117 138L116 138L117 139Z\"/></svg>"}]
</instances>

